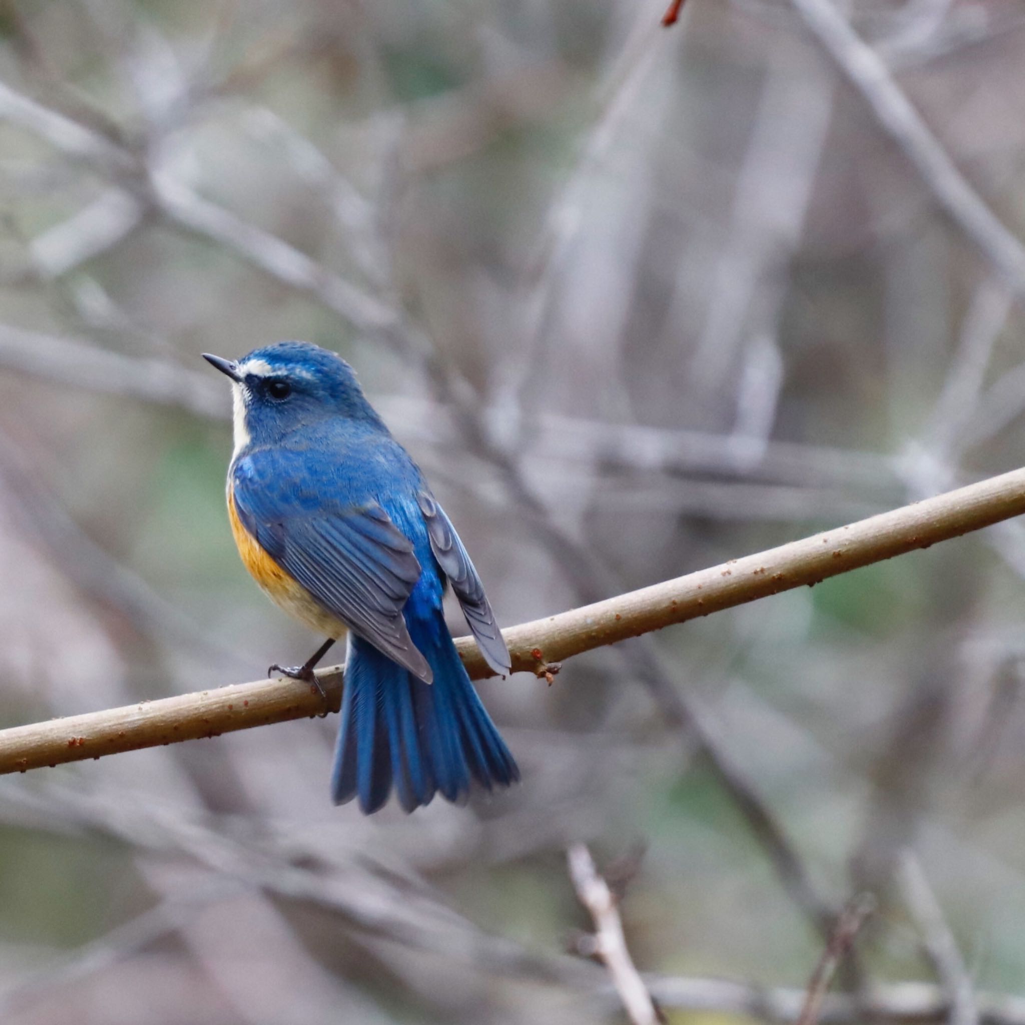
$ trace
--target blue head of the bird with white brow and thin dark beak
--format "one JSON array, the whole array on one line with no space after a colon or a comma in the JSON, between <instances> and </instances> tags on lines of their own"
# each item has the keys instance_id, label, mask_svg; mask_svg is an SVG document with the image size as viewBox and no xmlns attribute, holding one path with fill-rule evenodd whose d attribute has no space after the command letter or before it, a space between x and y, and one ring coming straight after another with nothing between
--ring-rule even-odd
<instances>
[{"instance_id":1,"label":"blue head of the bird with white brow and thin dark beak","mask_svg":"<svg viewBox=\"0 0 1025 1025\"><path fill-rule=\"evenodd\" d=\"M279 341L240 360L203 358L232 379L236 452L332 418L380 425L353 368L320 345Z\"/></svg>"}]
</instances>

